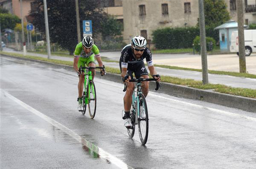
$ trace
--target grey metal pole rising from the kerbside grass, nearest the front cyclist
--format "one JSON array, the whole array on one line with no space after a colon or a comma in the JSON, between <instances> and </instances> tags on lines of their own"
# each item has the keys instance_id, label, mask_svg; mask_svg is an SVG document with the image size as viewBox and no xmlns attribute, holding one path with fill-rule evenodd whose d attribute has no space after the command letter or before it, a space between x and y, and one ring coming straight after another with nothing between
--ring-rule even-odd
<instances>
[{"instance_id":1,"label":"grey metal pole rising from the kerbside grass, nearest the front cyclist","mask_svg":"<svg viewBox=\"0 0 256 169\"><path fill-rule=\"evenodd\" d=\"M199 25L200 25L200 44L201 44L201 61L203 84L208 84L208 68L207 68L207 52L206 52L206 37L204 23L204 0L198 0L199 4Z\"/></svg>"}]
</instances>

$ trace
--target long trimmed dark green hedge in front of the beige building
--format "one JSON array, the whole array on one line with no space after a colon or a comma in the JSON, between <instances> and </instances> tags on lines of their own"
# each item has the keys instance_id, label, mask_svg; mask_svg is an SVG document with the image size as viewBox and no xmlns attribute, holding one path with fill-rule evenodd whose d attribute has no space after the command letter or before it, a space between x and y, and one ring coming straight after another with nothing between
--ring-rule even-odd
<instances>
[{"instance_id":1,"label":"long trimmed dark green hedge in front of the beige building","mask_svg":"<svg viewBox=\"0 0 256 169\"><path fill-rule=\"evenodd\" d=\"M219 40L218 30L206 28L207 37ZM161 28L154 30L153 42L158 49L192 48L193 40L200 35L198 27L188 28Z\"/></svg>"}]
</instances>

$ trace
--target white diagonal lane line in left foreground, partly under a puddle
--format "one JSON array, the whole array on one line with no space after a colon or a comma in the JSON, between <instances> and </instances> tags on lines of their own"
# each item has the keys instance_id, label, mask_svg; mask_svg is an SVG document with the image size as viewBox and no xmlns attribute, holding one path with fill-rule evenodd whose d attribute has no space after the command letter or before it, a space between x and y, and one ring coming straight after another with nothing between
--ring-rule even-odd
<instances>
[{"instance_id":1,"label":"white diagonal lane line in left foreground, partly under a puddle","mask_svg":"<svg viewBox=\"0 0 256 169\"><path fill-rule=\"evenodd\" d=\"M118 158L114 157L113 155L109 154L102 148L96 146L95 144L91 143L90 141L87 141L86 139L82 138L80 135L76 134L69 128L65 127L64 125L58 123L57 121L53 120L52 118L48 117L47 115L44 115L43 113L39 112L38 110L35 110L33 107L30 107L28 104L24 103L23 101L20 101L19 99L15 98L11 94L7 93L3 89L1 89L1 92L4 92L4 95L15 101L17 104L20 104L22 107L26 108L30 112L34 113L35 115L38 115L48 123L52 124L53 126L61 129L62 131L66 132L68 135L79 141L84 146L87 146L89 149L91 149L93 152L97 153L100 158L105 159L107 161L110 161L111 163L118 166L120 169L133 169L131 166L128 166Z\"/></svg>"}]
</instances>

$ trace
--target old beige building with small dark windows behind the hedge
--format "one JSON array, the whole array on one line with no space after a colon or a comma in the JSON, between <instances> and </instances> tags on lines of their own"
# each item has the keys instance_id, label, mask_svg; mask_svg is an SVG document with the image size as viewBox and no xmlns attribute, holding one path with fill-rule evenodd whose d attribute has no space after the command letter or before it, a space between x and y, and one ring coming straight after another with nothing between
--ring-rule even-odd
<instances>
[{"instance_id":1,"label":"old beige building with small dark windows behind the hedge","mask_svg":"<svg viewBox=\"0 0 256 169\"><path fill-rule=\"evenodd\" d=\"M236 0L224 0L232 20L237 21ZM256 0L243 0L244 23L256 23ZM126 43L135 35L152 39L152 31L165 27L195 26L198 0L123 0L123 37Z\"/></svg>"}]
</instances>

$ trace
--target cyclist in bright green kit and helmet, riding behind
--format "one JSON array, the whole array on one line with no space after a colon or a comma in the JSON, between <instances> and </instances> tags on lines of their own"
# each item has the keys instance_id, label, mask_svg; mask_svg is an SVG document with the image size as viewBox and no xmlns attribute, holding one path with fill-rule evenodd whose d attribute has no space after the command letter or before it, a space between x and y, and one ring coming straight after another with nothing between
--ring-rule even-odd
<instances>
[{"instance_id":1,"label":"cyclist in bright green kit and helmet, riding behind","mask_svg":"<svg viewBox=\"0 0 256 169\"><path fill-rule=\"evenodd\" d=\"M79 71L79 67L80 66L84 67L85 65L89 67L96 67L94 56L96 57L96 60L99 63L99 67L102 67L103 63L99 54L98 47L94 44L92 37L86 36L83 38L82 42L76 45L76 49L74 52L73 68L76 70L77 75L79 76L78 99L77 99L79 110L83 109L82 95L83 95L83 87L84 87L84 73ZM100 73L102 76L105 75L105 72L103 70L101 70ZM94 78L95 69L92 69L92 75Z\"/></svg>"}]
</instances>

